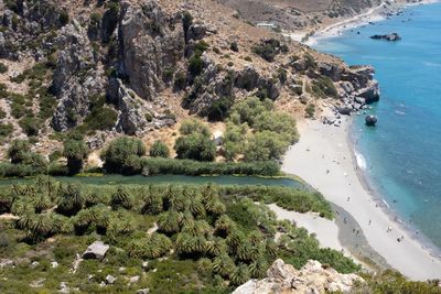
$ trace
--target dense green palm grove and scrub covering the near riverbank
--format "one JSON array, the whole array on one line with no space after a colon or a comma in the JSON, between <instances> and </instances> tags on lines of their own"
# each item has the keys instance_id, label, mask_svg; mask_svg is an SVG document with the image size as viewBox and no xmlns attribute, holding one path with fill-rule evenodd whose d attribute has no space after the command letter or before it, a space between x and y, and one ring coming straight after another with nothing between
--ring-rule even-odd
<instances>
[{"instance_id":1,"label":"dense green palm grove and scrub covering the near riverbank","mask_svg":"<svg viewBox=\"0 0 441 294\"><path fill-rule=\"evenodd\" d=\"M0 258L15 261L15 266L0 269L2 293L26 293L40 279L39 291L50 293L62 281L79 293L144 287L150 293L230 293L250 277L262 277L282 257L297 268L311 258L332 258L330 265L341 272L358 270L340 252L321 249L304 229L278 221L265 205L254 203L286 195L295 199L291 204L299 211L311 207L331 216L323 198L309 192L214 185L79 187L39 177L31 185L2 186L0 195L1 213L19 217L0 222ZM158 230L148 232L153 224ZM72 273L76 254L95 240L110 246L106 258L84 260ZM117 281L103 288L107 274ZM129 283L135 275L138 282Z\"/></svg>"}]
</instances>

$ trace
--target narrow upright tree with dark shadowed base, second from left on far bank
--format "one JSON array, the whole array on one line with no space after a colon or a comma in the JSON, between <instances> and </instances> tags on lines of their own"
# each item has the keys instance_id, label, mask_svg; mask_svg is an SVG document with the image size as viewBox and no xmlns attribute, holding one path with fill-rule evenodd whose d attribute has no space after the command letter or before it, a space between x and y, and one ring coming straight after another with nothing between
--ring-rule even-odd
<instances>
[{"instance_id":1,"label":"narrow upright tree with dark shadowed base, second from left on far bank","mask_svg":"<svg viewBox=\"0 0 441 294\"><path fill-rule=\"evenodd\" d=\"M83 168L83 160L87 159L88 148L83 138L72 137L64 141L63 155L67 157L69 174L77 174Z\"/></svg>"}]
</instances>

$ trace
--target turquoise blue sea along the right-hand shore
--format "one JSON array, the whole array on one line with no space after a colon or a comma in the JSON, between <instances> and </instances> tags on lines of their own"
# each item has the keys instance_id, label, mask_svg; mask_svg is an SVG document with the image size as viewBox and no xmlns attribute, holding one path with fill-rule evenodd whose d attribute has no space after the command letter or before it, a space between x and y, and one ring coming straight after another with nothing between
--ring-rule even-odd
<instances>
[{"instance_id":1,"label":"turquoise blue sea along the right-hand shore","mask_svg":"<svg viewBox=\"0 0 441 294\"><path fill-rule=\"evenodd\" d=\"M402 41L369 39L391 32ZM351 65L375 66L381 99L370 112L378 126L369 129L355 118L356 149L390 208L441 248L441 3L408 8L315 47Z\"/></svg>"}]
</instances>

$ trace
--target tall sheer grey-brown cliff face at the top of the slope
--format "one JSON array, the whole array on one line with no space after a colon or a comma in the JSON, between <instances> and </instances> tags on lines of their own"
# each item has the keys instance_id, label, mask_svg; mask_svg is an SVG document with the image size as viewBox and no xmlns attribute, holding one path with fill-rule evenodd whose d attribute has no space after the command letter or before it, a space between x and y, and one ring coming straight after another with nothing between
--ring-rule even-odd
<instances>
[{"instance_id":1,"label":"tall sheer grey-brown cliff face at the top of the slope","mask_svg":"<svg viewBox=\"0 0 441 294\"><path fill-rule=\"evenodd\" d=\"M139 97L155 100L164 88L163 70L174 67L184 55L185 40L180 20L163 13L157 1L147 1L142 8L126 2L119 40L121 70L130 87Z\"/></svg>"}]
</instances>

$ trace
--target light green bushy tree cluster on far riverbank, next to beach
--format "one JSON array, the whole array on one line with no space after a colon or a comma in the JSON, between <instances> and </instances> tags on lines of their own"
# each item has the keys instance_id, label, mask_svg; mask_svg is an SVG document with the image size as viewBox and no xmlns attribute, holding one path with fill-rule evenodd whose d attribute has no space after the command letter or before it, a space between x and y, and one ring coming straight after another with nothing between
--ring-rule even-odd
<instances>
[{"instance_id":1,"label":"light green bushy tree cluster on far riverbank, next to beach","mask_svg":"<svg viewBox=\"0 0 441 294\"><path fill-rule=\"evenodd\" d=\"M295 120L275 111L271 100L256 97L232 108L224 137L225 157L232 161L244 154L247 162L279 160L299 140Z\"/></svg>"}]
</instances>

